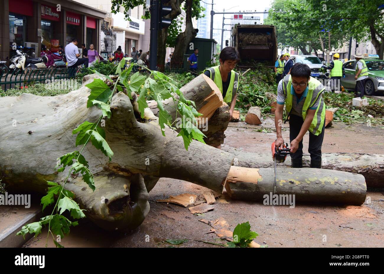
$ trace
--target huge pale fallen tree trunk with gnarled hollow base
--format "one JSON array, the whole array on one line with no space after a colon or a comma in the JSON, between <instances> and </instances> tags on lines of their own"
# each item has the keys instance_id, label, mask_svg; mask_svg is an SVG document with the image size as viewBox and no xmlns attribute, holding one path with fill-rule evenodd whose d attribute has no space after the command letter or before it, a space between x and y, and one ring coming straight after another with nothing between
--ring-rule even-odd
<instances>
[{"instance_id":1,"label":"huge pale fallen tree trunk with gnarled hollow base","mask_svg":"<svg viewBox=\"0 0 384 274\"><path fill-rule=\"evenodd\" d=\"M95 77L84 77L83 85ZM59 96L23 94L0 99L0 115L7 119L0 127L0 171L8 191L45 193L46 181L65 180L68 167L63 173L54 171L56 159L76 150L72 131L79 124L94 122L101 115L95 106L86 107L89 91L82 86ZM221 193L234 159L233 154L198 141L185 150L182 137L170 128L162 136L158 118L149 108L144 110L144 119L136 119L140 113L137 96L132 95L130 100L124 92L114 93L112 116L105 119L112 161L94 146L83 150L96 191L91 192L78 174L70 176L65 185L86 209L84 213L109 230L134 229L144 220L149 212L148 191L160 177L189 181ZM340 179L350 176L341 171L335 171L336 175Z\"/></svg>"}]
</instances>

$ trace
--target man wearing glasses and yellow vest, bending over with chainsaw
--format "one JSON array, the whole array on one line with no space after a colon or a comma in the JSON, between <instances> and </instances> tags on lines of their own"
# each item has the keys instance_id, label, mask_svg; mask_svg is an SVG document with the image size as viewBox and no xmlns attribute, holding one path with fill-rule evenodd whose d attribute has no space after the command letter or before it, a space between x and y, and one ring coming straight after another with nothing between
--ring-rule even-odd
<instances>
[{"instance_id":1,"label":"man wearing glasses and yellow vest, bending over with chainsaw","mask_svg":"<svg viewBox=\"0 0 384 274\"><path fill-rule=\"evenodd\" d=\"M324 86L311 77L308 65L296 63L291 73L278 84L277 107L275 111L276 146L284 143L281 135L283 108L289 117L290 148L293 168L302 168L303 137L309 131L308 152L311 154L311 168L321 168L321 145L325 128L325 104L322 98Z\"/></svg>"}]
</instances>

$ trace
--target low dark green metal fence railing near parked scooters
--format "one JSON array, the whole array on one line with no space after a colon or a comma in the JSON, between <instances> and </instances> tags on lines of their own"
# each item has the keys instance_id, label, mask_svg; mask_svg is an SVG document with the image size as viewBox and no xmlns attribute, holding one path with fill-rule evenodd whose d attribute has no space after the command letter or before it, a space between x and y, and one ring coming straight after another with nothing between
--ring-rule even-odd
<instances>
[{"instance_id":1,"label":"low dark green metal fence railing near parked scooters","mask_svg":"<svg viewBox=\"0 0 384 274\"><path fill-rule=\"evenodd\" d=\"M80 69L80 68L79 68ZM25 70L9 70L5 74L0 70L0 87L3 90L13 88L14 86L28 86L35 83L46 83L46 80L60 80L73 78L75 73L79 71L68 71L75 69L68 68L40 68L40 69L25 69ZM3 75L4 74L4 75ZM72 74L72 75L71 75Z\"/></svg>"}]
</instances>

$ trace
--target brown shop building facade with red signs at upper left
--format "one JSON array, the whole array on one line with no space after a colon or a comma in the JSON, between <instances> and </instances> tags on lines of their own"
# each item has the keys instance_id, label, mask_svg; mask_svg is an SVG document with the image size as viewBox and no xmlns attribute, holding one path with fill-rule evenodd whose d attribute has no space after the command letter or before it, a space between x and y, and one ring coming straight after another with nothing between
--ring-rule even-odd
<instances>
[{"instance_id":1,"label":"brown shop building facade with red signs at upper left","mask_svg":"<svg viewBox=\"0 0 384 274\"><path fill-rule=\"evenodd\" d=\"M16 50L40 56L41 46L55 52L73 38L100 48L106 12L72 0L0 0L0 57ZM8 47L9 45L9 47Z\"/></svg>"}]
</instances>

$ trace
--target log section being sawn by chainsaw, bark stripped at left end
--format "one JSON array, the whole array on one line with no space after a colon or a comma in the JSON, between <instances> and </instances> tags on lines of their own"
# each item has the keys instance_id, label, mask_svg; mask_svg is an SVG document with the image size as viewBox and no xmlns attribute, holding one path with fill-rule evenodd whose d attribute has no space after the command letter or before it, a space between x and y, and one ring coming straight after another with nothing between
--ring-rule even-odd
<instances>
[{"instance_id":1,"label":"log section being sawn by chainsaw, bark stripped at left end","mask_svg":"<svg viewBox=\"0 0 384 274\"><path fill-rule=\"evenodd\" d=\"M265 195L295 194L295 201L361 205L366 199L364 176L317 168L278 168L274 193L273 168L232 166L225 183L232 199L263 201Z\"/></svg>"}]
</instances>

